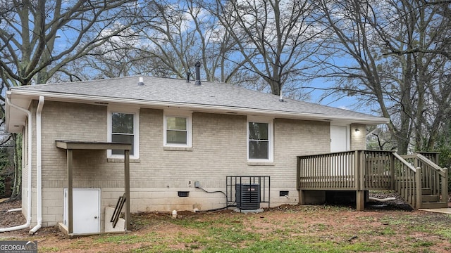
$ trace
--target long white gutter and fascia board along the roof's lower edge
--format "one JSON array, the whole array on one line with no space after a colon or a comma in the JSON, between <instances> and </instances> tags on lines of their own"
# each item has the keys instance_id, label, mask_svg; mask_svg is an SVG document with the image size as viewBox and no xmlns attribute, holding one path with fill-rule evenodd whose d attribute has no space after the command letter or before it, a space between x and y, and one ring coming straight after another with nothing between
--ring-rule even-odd
<instances>
[{"instance_id":1,"label":"long white gutter and fascia board along the roof's lower edge","mask_svg":"<svg viewBox=\"0 0 451 253\"><path fill-rule=\"evenodd\" d=\"M239 108L233 106L223 105L205 105L193 103L175 103L158 100L136 100L130 98L109 98L103 96L87 96L78 94L53 93L46 91L13 91L18 96L28 96L31 99L38 99L39 96L45 96L46 100L67 101L75 103L93 103L102 105L102 103L119 103L127 105L139 105L140 107L156 107L156 108L184 108L186 110L200 111L200 112L222 112L222 113L237 113L242 115L266 115L269 117L280 117L289 119L307 119L316 121L345 121L357 122L361 124L387 124L389 119L383 117L345 117L337 115L322 115L315 113L304 112L285 112L280 110L264 110L254 108Z\"/></svg>"}]
</instances>

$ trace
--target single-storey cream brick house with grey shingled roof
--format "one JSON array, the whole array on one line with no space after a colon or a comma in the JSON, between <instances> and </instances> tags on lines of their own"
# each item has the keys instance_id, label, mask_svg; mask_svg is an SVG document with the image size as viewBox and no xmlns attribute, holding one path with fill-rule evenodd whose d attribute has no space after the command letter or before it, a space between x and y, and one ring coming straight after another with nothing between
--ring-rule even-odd
<instances>
[{"instance_id":1,"label":"single-storey cream brick house with grey shingled roof","mask_svg":"<svg viewBox=\"0 0 451 253\"><path fill-rule=\"evenodd\" d=\"M23 214L54 226L94 205L97 232L109 222L105 207L124 191L130 212L202 211L236 202L228 179L249 176L268 181L261 207L297 204L297 155L365 149L366 125L387 123L228 84L159 77L20 86L6 97L6 130L23 133Z\"/></svg>"}]
</instances>

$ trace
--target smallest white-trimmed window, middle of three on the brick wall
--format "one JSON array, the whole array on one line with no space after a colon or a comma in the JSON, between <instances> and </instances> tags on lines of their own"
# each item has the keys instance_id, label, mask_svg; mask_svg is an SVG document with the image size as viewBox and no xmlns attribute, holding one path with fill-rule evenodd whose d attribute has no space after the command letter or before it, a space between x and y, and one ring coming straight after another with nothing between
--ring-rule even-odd
<instances>
[{"instance_id":1,"label":"smallest white-trimmed window, middle of three on the brick wall","mask_svg":"<svg viewBox=\"0 0 451 253\"><path fill-rule=\"evenodd\" d=\"M191 148L191 128L191 115L164 115L164 145Z\"/></svg>"}]
</instances>

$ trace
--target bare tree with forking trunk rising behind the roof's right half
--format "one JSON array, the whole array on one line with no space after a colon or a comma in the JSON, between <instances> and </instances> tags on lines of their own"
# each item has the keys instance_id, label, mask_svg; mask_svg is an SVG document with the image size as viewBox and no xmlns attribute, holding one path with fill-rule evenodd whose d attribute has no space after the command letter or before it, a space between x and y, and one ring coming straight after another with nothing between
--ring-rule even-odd
<instances>
[{"instance_id":1,"label":"bare tree with forking trunk rising behind the roof's right half","mask_svg":"<svg viewBox=\"0 0 451 253\"><path fill-rule=\"evenodd\" d=\"M282 87L296 83L307 68L305 60L319 48L310 1L221 1L209 6L211 13L233 38L239 54L229 60L245 63L280 94ZM240 63L240 64L242 64Z\"/></svg>"}]
</instances>

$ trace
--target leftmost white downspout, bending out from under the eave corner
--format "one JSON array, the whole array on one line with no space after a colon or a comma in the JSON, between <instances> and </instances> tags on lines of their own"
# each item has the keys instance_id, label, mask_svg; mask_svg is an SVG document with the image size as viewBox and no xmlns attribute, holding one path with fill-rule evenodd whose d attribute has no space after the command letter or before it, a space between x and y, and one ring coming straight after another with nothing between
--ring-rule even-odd
<instances>
[{"instance_id":1,"label":"leftmost white downspout, bending out from under the eave corner","mask_svg":"<svg viewBox=\"0 0 451 253\"><path fill-rule=\"evenodd\" d=\"M31 224L31 179L32 179L32 114L29 110L26 110L24 108L19 107L18 105L14 105L13 103L11 103L11 101L9 100L8 96L6 96L6 103L8 105L10 105L13 108L16 108L17 110L23 111L25 113L27 113L28 115L28 190L27 190L27 195L28 195L28 207L27 207L27 223L23 224L23 225L19 225L19 226L13 226L13 227L9 227L9 228L0 228L0 232L8 232L8 231L16 231L16 230L20 230L20 229L24 229L24 228L30 228L30 224ZM22 175L20 175L22 176Z\"/></svg>"}]
</instances>

